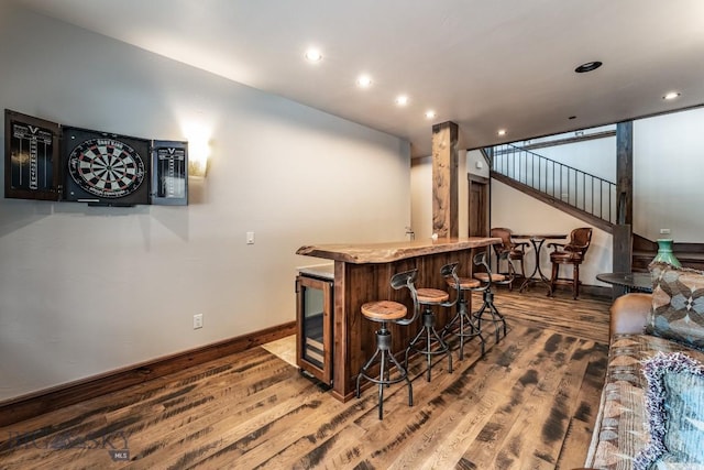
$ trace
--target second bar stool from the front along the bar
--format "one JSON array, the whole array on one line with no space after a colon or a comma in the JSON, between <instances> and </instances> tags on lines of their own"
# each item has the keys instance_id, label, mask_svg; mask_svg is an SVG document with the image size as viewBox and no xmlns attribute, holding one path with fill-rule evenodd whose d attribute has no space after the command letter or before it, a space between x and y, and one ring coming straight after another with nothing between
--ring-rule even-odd
<instances>
[{"instance_id":1,"label":"second bar stool from the front along the bar","mask_svg":"<svg viewBox=\"0 0 704 470\"><path fill-rule=\"evenodd\" d=\"M442 277L452 278L457 276L458 263L449 263L440 269ZM432 307L452 307L458 302L458 296L454 300L450 299L450 294L439 288L419 287L417 289L418 304L425 306L422 313L422 328L418 331L418 335L408 343L406 348L406 360L404 362L406 370L408 370L408 354L411 351L425 354L428 362L427 380L430 382L430 370L432 369L432 357L437 354L446 354L448 357L448 372L452 372L452 354L450 348L442 339L442 336L438 334L436 329L436 314L432 311ZM433 345L436 346L433 349Z\"/></svg>"}]
</instances>

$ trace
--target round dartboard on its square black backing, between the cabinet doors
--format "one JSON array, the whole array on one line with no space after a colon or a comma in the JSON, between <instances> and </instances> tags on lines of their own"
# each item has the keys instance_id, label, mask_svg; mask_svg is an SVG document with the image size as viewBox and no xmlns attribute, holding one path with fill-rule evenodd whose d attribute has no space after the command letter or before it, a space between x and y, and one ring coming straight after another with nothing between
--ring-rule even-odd
<instances>
[{"instance_id":1,"label":"round dartboard on its square black backing, between the cabinet doors","mask_svg":"<svg viewBox=\"0 0 704 470\"><path fill-rule=\"evenodd\" d=\"M148 142L64 128L66 199L148 204Z\"/></svg>"}]
</instances>

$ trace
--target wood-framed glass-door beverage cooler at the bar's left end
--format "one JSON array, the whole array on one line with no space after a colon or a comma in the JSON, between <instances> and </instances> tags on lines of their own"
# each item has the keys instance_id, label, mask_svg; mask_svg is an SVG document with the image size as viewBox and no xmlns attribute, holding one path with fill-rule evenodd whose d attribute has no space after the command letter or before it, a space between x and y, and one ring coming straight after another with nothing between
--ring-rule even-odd
<instances>
[{"instance_id":1,"label":"wood-framed glass-door beverage cooler at the bar's left end","mask_svg":"<svg viewBox=\"0 0 704 470\"><path fill-rule=\"evenodd\" d=\"M332 385L333 265L300 267L296 276L296 363Z\"/></svg>"}]
</instances>

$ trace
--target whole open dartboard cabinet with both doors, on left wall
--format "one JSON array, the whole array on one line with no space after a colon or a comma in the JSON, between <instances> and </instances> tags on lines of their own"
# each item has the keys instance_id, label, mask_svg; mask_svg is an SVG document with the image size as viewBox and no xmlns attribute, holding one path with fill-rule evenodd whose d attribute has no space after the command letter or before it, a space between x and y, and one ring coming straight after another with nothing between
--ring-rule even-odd
<instances>
[{"instance_id":1,"label":"whole open dartboard cabinet with both doors, on left wall","mask_svg":"<svg viewBox=\"0 0 704 470\"><path fill-rule=\"evenodd\" d=\"M187 205L188 143L61 125L6 110L6 198Z\"/></svg>"}]
</instances>

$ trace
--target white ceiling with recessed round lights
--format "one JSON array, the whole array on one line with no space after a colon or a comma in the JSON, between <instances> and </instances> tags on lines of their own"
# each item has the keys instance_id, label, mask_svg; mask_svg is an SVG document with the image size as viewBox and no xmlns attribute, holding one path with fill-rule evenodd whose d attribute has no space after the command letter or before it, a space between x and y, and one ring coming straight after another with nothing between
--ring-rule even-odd
<instances>
[{"instance_id":1,"label":"white ceiling with recessed round lights","mask_svg":"<svg viewBox=\"0 0 704 470\"><path fill-rule=\"evenodd\" d=\"M407 139L413 156L446 121L474 149L704 103L702 0L18 1Z\"/></svg>"}]
</instances>

